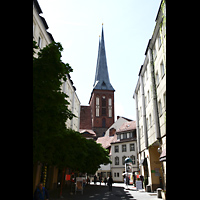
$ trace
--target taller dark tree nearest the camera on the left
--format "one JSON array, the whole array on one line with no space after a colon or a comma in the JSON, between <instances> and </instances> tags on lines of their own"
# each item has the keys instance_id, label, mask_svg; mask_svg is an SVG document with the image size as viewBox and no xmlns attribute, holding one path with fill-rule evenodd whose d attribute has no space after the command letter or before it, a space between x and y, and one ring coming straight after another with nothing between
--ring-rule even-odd
<instances>
[{"instance_id":1,"label":"taller dark tree nearest the camera on the left","mask_svg":"<svg viewBox=\"0 0 200 200\"><path fill-rule=\"evenodd\" d=\"M33 54L36 43L33 42ZM62 81L72 72L61 61L60 43L52 42L33 56L33 161L52 163L52 138L66 131L65 122L75 117L68 109Z\"/></svg>"}]
</instances>

